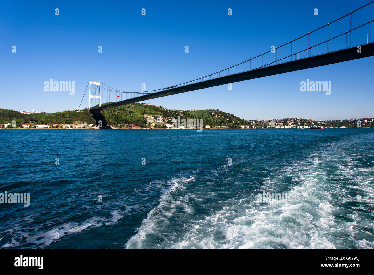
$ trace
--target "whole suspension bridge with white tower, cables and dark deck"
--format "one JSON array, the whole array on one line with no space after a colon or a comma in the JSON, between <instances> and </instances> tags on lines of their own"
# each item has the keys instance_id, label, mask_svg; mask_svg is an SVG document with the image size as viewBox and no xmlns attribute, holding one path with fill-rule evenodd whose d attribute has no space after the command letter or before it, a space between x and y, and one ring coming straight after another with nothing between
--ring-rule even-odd
<instances>
[{"instance_id":1,"label":"whole suspension bridge with white tower, cables and dark deck","mask_svg":"<svg viewBox=\"0 0 374 275\"><path fill-rule=\"evenodd\" d=\"M373 2L371 1L288 43L278 47L271 46L270 50L253 58L175 86L157 90L126 92L114 89L100 81L90 80L85 91L86 94L87 89L89 90L88 109L91 112L98 112L102 109L148 99L373 56L374 41L370 40L370 25L374 18L365 20L362 15L358 15L361 22L352 27L352 16L372 7ZM371 11L369 14L374 17L374 12ZM317 36L317 40L319 40L315 41L314 38L313 45L311 45L312 35Z\"/></svg>"}]
</instances>

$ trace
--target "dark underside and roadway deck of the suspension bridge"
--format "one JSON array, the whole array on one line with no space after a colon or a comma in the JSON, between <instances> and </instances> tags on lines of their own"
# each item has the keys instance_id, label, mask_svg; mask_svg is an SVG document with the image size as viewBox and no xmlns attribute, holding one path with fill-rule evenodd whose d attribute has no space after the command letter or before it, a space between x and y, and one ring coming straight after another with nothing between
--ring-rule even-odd
<instances>
[{"instance_id":1,"label":"dark underside and roadway deck of the suspension bridge","mask_svg":"<svg viewBox=\"0 0 374 275\"><path fill-rule=\"evenodd\" d=\"M298 71L302 69L309 69L329 64L335 64L339 62L365 58L374 55L374 42L369 44L361 45L361 53L357 52L357 46L349 49L337 50L330 53L325 53L317 56L308 58L298 59L295 61L289 61L282 64L271 65L260 69L252 69L251 71L240 72L232 75L226 75L211 80L205 80L198 83L189 84L182 87L176 87L171 89L162 90L160 92L151 93L149 95L138 96L131 99L126 99L119 102L102 105L96 109L104 109L109 107L121 106L129 103L145 101L153 98L160 98L162 96L175 95L178 93L185 93L194 90L205 89L209 87L215 87L224 85L227 83L234 83L243 80L250 80L254 78L266 77L269 75L283 74L285 72Z\"/></svg>"}]
</instances>

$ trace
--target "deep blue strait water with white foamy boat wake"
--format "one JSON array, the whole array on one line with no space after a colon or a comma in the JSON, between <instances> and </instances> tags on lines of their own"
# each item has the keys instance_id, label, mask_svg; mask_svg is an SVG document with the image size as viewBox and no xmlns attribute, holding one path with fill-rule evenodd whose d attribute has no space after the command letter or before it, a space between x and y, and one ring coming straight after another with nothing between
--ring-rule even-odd
<instances>
[{"instance_id":1,"label":"deep blue strait water with white foamy boat wake","mask_svg":"<svg viewBox=\"0 0 374 275\"><path fill-rule=\"evenodd\" d=\"M0 138L0 193L30 193L0 204L1 248L374 248L373 129Z\"/></svg>"}]
</instances>

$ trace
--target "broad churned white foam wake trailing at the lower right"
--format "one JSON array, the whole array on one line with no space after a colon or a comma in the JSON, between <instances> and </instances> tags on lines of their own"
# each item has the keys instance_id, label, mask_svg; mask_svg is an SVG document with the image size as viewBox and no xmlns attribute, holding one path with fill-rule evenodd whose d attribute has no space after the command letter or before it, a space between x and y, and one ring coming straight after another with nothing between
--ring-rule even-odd
<instances>
[{"instance_id":1,"label":"broad churned white foam wake trailing at the lower right","mask_svg":"<svg viewBox=\"0 0 374 275\"><path fill-rule=\"evenodd\" d=\"M349 140L344 145L347 144ZM362 209L370 211L373 177L361 174L373 175L373 168L356 168L356 156L347 155L349 152L337 147L344 145L327 145L327 152L318 152L318 165L313 163L316 154L312 154L310 160L292 163L264 179L264 189L276 190L289 188L289 183L282 182L291 177L294 187L286 191L287 204L257 204L255 194L252 198L250 194L242 194L242 198L222 201L220 210L200 219L182 220L175 208L188 205L181 203L180 197L179 200L172 197L183 186L183 179L175 180L175 185L161 196L160 204L143 220L126 248L335 249L347 247L347 242L349 247L373 248L373 242L363 239L365 232L357 226L373 231L372 218L363 216L354 207L347 210L344 206L356 202L352 190L359 190ZM223 170L212 170L210 175L220 176ZM205 185L212 188L215 183L206 180ZM209 194L214 197L219 192ZM337 213L346 218L337 220ZM172 217L181 220L172 222Z\"/></svg>"}]
</instances>

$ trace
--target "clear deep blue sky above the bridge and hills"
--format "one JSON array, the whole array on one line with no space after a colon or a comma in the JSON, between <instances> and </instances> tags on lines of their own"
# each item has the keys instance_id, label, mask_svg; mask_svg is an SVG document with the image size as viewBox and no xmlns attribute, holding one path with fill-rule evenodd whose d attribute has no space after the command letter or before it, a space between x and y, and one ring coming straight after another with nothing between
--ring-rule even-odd
<instances>
[{"instance_id":1,"label":"clear deep blue sky above the bridge and hills","mask_svg":"<svg viewBox=\"0 0 374 275\"><path fill-rule=\"evenodd\" d=\"M366 3L4 1L0 107L46 112L74 109L89 80L127 91L141 90L141 83L147 90L179 84L270 50ZM232 16L227 15L229 8ZM318 16L313 14L315 8ZM363 18L374 19L374 3L367 10L353 16L353 27ZM371 29L374 41L373 24ZM366 42L366 33L367 28L357 41ZM311 44L326 37L326 32L319 33ZM16 53L12 53L13 45ZM103 47L102 53L98 46ZM219 108L244 119L374 117L373 64L374 57L364 58L233 83L232 90L223 85L147 102L168 109ZM50 78L75 81L75 94L45 92L43 83ZM300 92L300 81L307 78L331 81L331 95ZM86 95L81 108L87 101Z\"/></svg>"}]
</instances>

